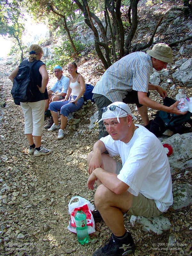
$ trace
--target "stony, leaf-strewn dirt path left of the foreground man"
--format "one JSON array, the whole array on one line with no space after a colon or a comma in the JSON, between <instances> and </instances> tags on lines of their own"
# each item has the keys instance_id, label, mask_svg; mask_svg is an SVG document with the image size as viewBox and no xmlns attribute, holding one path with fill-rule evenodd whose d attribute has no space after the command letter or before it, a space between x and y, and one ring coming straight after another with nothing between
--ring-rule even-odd
<instances>
[{"instance_id":1,"label":"stony, leaf-strewn dirt path left of the foreground man","mask_svg":"<svg viewBox=\"0 0 192 256\"><path fill-rule=\"evenodd\" d=\"M5 62L0 66L3 74L8 71ZM25 255L21 250L23 243L30 243L25 247L27 255L62 255L68 250L74 255L91 255L95 245L79 245L76 236L67 230L68 202L74 195L94 198L86 187L86 156L97 135L75 136L75 132L69 132L58 141L56 132L44 130L42 144L52 153L46 157L28 155L23 113L12 100L12 83L7 75L1 79L1 93L6 101L5 108L1 108L4 113L0 132L0 156L4 155L0 178L5 188L1 193L1 223L2 235L6 237L1 255L7 255L8 244L10 255Z\"/></svg>"}]
</instances>

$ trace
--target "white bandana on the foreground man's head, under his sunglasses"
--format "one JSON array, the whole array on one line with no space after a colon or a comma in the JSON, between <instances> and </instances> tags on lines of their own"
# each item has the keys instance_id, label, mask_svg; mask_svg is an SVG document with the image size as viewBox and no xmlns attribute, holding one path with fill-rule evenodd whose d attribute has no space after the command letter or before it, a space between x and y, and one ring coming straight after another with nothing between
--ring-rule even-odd
<instances>
[{"instance_id":1,"label":"white bandana on the foreground man's head, under his sunglasses","mask_svg":"<svg viewBox=\"0 0 192 256\"><path fill-rule=\"evenodd\" d=\"M115 105L116 108L114 110L110 110L109 108L113 105ZM98 121L98 123L100 121L103 121L103 119L109 119L113 117L116 117L117 121L120 122L120 117L128 115L131 115L134 119L137 119L135 116L132 115L131 109L127 104L125 104L124 102L116 101L107 106L107 111L102 114L102 118Z\"/></svg>"}]
</instances>

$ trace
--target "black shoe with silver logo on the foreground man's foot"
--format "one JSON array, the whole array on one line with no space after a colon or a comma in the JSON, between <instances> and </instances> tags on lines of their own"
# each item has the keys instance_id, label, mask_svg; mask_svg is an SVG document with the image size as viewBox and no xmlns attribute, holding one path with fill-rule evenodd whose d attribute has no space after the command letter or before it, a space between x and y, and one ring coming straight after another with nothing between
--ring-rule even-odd
<instances>
[{"instance_id":1,"label":"black shoe with silver logo on the foreground man's foot","mask_svg":"<svg viewBox=\"0 0 192 256\"><path fill-rule=\"evenodd\" d=\"M112 234L107 242L108 244L93 252L92 256L125 256L135 251L135 244L129 232L123 239L117 239Z\"/></svg>"}]
</instances>

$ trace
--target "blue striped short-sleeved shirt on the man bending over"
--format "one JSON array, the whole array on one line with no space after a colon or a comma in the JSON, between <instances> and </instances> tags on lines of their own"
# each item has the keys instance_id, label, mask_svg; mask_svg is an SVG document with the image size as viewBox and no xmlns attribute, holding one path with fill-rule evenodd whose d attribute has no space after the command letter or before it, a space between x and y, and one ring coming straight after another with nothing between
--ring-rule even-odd
<instances>
[{"instance_id":1,"label":"blue striped short-sleeved shirt on the man bending over","mask_svg":"<svg viewBox=\"0 0 192 256\"><path fill-rule=\"evenodd\" d=\"M92 92L104 95L111 102L122 101L126 92L132 89L148 92L152 72L151 56L145 52L133 52L110 66Z\"/></svg>"}]
</instances>

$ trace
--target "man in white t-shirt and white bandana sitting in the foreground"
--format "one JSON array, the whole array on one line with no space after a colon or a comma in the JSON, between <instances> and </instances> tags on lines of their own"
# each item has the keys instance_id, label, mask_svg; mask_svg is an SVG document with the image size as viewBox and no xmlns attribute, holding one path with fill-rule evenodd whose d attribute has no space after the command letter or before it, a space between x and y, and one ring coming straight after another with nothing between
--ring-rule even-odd
<instances>
[{"instance_id":1,"label":"man in white t-shirt and white bandana sitting in the foreground","mask_svg":"<svg viewBox=\"0 0 192 256\"><path fill-rule=\"evenodd\" d=\"M98 210L92 212L93 217L102 216L112 235L93 256L129 255L135 244L125 229L123 215L149 218L168 210L173 203L170 166L156 136L142 125L133 124L127 104L114 102L102 112L109 135L97 141L87 157L87 186L93 189L97 183ZM106 150L109 155L104 154ZM122 164L112 158L117 155Z\"/></svg>"}]
</instances>

